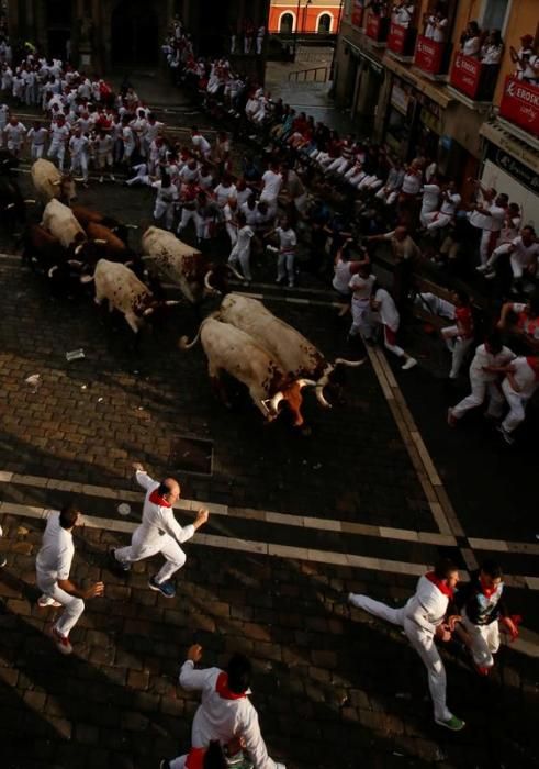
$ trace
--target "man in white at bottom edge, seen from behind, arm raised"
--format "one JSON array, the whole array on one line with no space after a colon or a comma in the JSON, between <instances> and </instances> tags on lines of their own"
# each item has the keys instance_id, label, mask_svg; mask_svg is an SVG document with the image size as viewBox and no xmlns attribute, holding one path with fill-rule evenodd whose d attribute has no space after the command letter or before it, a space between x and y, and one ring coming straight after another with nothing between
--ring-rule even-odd
<instances>
[{"instance_id":1,"label":"man in white at bottom edge, seen from behind, arm raised","mask_svg":"<svg viewBox=\"0 0 539 769\"><path fill-rule=\"evenodd\" d=\"M235 654L226 670L195 670L194 666L201 659L202 647L194 644L188 649L180 671L180 686L183 689L202 692L202 703L194 714L191 731L192 748L206 748L212 740L226 745L233 737L242 737L255 769L285 769L283 764L268 756L258 714L248 699L251 677L249 660L244 655ZM160 769L183 769L186 758L162 760Z\"/></svg>"}]
</instances>

